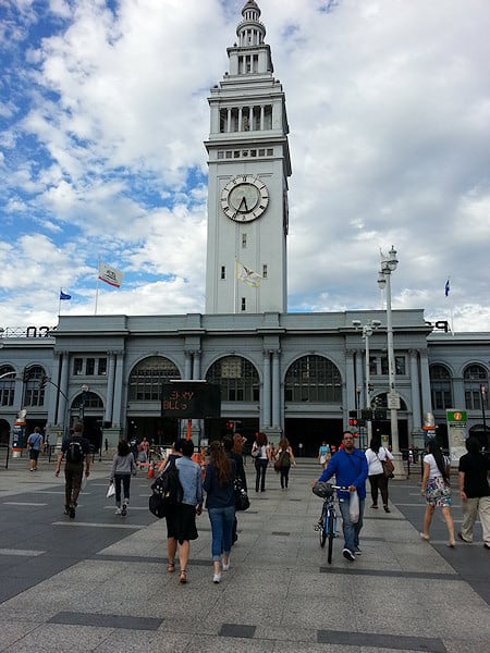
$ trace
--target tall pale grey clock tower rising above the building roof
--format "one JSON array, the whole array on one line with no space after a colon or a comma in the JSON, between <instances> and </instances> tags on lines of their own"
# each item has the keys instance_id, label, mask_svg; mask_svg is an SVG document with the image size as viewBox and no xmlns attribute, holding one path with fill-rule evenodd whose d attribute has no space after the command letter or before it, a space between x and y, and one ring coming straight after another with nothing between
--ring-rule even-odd
<instances>
[{"instance_id":1,"label":"tall pale grey clock tower rising above the building roof","mask_svg":"<svg viewBox=\"0 0 490 653\"><path fill-rule=\"evenodd\" d=\"M260 9L248 0L211 88L206 313L286 312L287 116Z\"/></svg>"}]
</instances>

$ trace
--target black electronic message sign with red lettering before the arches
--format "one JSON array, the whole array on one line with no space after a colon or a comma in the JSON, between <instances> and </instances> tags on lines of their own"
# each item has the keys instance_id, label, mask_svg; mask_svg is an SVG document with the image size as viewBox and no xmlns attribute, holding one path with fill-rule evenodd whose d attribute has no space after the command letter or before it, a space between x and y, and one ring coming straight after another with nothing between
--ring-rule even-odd
<instances>
[{"instance_id":1,"label":"black electronic message sign with red lettering before the arches","mask_svg":"<svg viewBox=\"0 0 490 653\"><path fill-rule=\"evenodd\" d=\"M204 381L164 383L161 392L161 416L181 419L221 417L221 389Z\"/></svg>"}]
</instances>

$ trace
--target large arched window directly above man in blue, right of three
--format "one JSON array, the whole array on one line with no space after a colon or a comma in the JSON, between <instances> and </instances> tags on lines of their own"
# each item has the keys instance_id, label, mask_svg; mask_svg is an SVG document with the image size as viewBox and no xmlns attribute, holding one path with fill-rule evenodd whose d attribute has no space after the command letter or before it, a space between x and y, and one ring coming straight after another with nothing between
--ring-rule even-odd
<instances>
[{"instance_id":1,"label":"large arched window directly above man in blue, right of three","mask_svg":"<svg viewBox=\"0 0 490 653\"><path fill-rule=\"evenodd\" d=\"M342 379L336 366L322 356L304 356L287 370L286 402L338 404L342 402Z\"/></svg>"}]
</instances>

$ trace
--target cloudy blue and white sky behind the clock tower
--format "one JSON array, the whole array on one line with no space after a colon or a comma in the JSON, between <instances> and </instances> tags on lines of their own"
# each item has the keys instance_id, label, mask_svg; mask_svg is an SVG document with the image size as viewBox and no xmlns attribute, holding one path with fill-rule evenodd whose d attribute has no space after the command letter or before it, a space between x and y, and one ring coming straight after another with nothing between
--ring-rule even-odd
<instances>
[{"instance_id":1,"label":"cloudy blue and white sky behind the clock tower","mask_svg":"<svg viewBox=\"0 0 490 653\"><path fill-rule=\"evenodd\" d=\"M0 0L0 326L205 310L209 89L245 0ZM488 0L258 0L290 124L289 311L490 331ZM446 279L451 291L444 294ZM103 286L103 287L102 287Z\"/></svg>"}]
</instances>

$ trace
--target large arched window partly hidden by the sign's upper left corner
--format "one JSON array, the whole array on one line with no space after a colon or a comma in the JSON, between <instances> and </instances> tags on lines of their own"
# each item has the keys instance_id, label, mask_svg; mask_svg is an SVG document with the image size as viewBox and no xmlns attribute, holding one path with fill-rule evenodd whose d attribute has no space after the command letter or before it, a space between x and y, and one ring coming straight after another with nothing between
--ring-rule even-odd
<instances>
[{"instance_id":1,"label":"large arched window partly hidden by the sign's upper left corner","mask_svg":"<svg viewBox=\"0 0 490 653\"><path fill-rule=\"evenodd\" d=\"M161 386L170 379L180 379L177 367L168 358L151 356L138 362L130 374L130 399L158 402Z\"/></svg>"}]
</instances>

